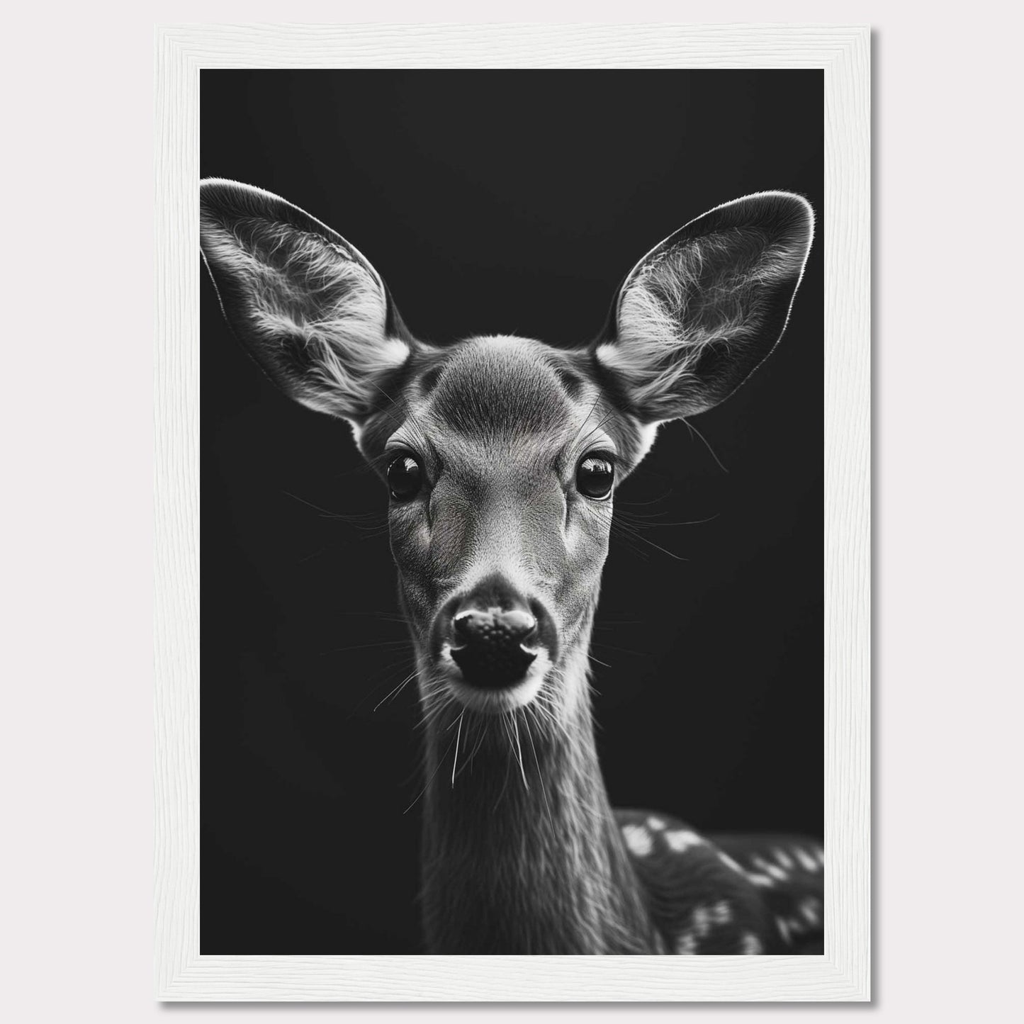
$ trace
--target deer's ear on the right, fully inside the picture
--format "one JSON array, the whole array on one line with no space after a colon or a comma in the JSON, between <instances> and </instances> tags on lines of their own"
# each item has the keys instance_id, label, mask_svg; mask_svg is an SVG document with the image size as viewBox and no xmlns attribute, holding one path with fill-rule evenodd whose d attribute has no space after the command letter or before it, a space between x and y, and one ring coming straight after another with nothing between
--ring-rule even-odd
<instances>
[{"instance_id":1,"label":"deer's ear on the right, fully inside the picture","mask_svg":"<svg viewBox=\"0 0 1024 1024\"><path fill-rule=\"evenodd\" d=\"M810 204L758 193L691 220L627 276L596 348L645 423L728 397L774 348L814 233Z\"/></svg>"}]
</instances>

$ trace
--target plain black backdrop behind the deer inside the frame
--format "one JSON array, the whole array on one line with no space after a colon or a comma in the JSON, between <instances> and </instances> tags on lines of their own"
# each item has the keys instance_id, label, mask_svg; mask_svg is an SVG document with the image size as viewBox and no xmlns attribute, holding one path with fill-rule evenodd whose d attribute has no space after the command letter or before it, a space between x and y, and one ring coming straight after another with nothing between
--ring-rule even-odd
<instances>
[{"instance_id":1,"label":"plain black backdrop behind the deer inside the frame","mask_svg":"<svg viewBox=\"0 0 1024 1024\"><path fill-rule=\"evenodd\" d=\"M821 85L202 73L203 175L336 228L433 342L589 341L685 221L765 188L813 204L776 352L694 421L708 444L664 428L615 500L633 535L613 532L595 631L605 777L616 806L703 830L822 826ZM202 293L202 951L417 952L415 683L375 711L412 671L386 495L347 426L282 396Z\"/></svg>"}]
</instances>

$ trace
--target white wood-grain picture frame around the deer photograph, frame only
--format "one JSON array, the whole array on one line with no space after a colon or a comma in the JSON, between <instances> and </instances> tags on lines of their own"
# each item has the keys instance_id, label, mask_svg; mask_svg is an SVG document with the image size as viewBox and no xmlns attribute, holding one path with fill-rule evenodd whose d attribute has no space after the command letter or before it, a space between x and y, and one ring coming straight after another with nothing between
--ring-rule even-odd
<instances>
[{"instance_id":1,"label":"white wood-grain picture frame around the deer photograph, frame only","mask_svg":"<svg viewBox=\"0 0 1024 1024\"><path fill-rule=\"evenodd\" d=\"M182 1000L865 1000L870 950L869 31L825 25L157 31L157 992ZM818 68L825 194L825 954L199 951L199 72Z\"/></svg>"}]
</instances>

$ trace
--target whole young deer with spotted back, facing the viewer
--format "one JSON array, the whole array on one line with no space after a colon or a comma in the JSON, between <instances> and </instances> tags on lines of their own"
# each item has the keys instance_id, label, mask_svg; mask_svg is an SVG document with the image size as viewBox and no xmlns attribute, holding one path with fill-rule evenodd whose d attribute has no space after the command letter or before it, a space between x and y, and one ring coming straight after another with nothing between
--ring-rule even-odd
<instances>
[{"instance_id":1,"label":"whole young deer with spotted back, facing the viewer","mask_svg":"<svg viewBox=\"0 0 1024 1024\"><path fill-rule=\"evenodd\" d=\"M588 683L614 489L659 424L771 351L810 206L760 193L690 221L630 271L592 344L434 347L331 228L236 182L201 196L234 333L286 394L351 424L390 493L426 723L429 950L820 952L820 848L613 811Z\"/></svg>"}]
</instances>

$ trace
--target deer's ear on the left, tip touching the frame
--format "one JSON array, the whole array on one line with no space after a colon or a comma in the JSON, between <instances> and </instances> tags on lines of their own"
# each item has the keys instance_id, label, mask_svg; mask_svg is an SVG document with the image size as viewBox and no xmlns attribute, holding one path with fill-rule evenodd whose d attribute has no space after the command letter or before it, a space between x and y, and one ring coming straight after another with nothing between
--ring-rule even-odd
<instances>
[{"instance_id":1,"label":"deer's ear on the left, tip touching the frame","mask_svg":"<svg viewBox=\"0 0 1024 1024\"><path fill-rule=\"evenodd\" d=\"M302 404L359 424L410 354L389 336L387 289L340 234L283 199L209 178L200 240L231 329Z\"/></svg>"}]
</instances>

